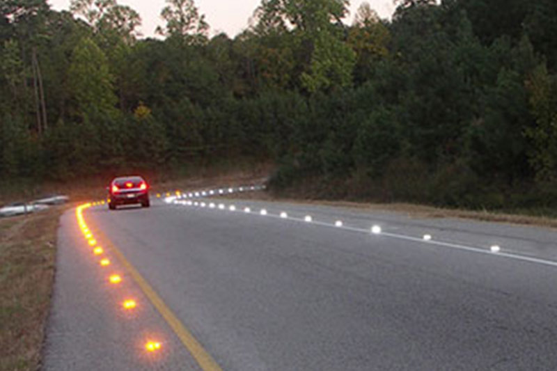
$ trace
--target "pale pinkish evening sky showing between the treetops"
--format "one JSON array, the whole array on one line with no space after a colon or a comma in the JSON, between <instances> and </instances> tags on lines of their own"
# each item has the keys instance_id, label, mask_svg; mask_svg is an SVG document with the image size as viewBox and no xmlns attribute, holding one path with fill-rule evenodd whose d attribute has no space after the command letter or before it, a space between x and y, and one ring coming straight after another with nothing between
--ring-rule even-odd
<instances>
[{"instance_id":1,"label":"pale pinkish evening sky showing between the treetops","mask_svg":"<svg viewBox=\"0 0 557 371\"><path fill-rule=\"evenodd\" d=\"M70 0L47 0L55 10L67 10ZM158 25L164 26L160 18L164 0L118 0L121 5L127 5L136 10L143 20L141 33L144 36L155 35ZM207 23L211 26L210 35L226 32L230 38L242 32L248 26L248 20L253 15L253 10L261 3L260 0L196 0L196 6L201 14L205 14ZM363 0L350 1L350 20ZM372 9L375 9L379 17L390 18L395 7L393 0L368 0Z\"/></svg>"}]
</instances>

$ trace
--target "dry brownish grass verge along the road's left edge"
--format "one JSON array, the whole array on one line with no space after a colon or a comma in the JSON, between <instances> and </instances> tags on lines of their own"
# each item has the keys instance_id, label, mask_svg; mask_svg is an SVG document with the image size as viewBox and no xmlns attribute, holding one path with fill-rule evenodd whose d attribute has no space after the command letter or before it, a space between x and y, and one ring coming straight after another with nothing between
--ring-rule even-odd
<instances>
[{"instance_id":1,"label":"dry brownish grass verge along the road's left edge","mask_svg":"<svg viewBox=\"0 0 557 371\"><path fill-rule=\"evenodd\" d=\"M0 370L37 370L65 207L0 219Z\"/></svg>"}]
</instances>

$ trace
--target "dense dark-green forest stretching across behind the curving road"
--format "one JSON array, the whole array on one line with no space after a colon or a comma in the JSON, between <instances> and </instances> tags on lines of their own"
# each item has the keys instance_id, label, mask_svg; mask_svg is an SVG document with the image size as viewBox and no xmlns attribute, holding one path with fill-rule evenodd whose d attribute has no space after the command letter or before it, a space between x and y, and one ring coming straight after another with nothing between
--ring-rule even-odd
<instances>
[{"instance_id":1,"label":"dense dark-green forest stretching across behind the curving road","mask_svg":"<svg viewBox=\"0 0 557 371\"><path fill-rule=\"evenodd\" d=\"M0 2L0 182L273 161L275 189L557 207L557 2L262 0L235 38L167 0Z\"/></svg>"}]
</instances>

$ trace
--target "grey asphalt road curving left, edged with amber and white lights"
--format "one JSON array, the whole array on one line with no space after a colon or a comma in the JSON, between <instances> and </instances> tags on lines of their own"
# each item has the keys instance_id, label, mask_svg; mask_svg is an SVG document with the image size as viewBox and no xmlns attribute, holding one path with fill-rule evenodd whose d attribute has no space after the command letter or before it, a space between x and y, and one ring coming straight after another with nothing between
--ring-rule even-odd
<instances>
[{"instance_id":1,"label":"grey asphalt road curving left, edged with amber and white lights","mask_svg":"<svg viewBox=\"0 0 557 371\"><path fill-rule=\"evenodd\" d=\"M557 370L557 232L320 205L196 203L86 210L113 262L104 268L74 212L63 216L44 370L206 370L166 309L221 370ZM107 283L115 271L118 287ZM132 313L119 305L127 297L138 303ZM145 352L149 338L160 352Z\"/></svg>"}]
</instances>

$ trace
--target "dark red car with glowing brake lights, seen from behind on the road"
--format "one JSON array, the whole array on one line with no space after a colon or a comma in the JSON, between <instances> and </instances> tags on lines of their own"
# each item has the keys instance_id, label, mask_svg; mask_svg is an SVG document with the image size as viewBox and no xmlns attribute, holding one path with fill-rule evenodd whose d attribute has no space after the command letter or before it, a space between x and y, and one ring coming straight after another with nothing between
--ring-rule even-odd
<instances>
[{"instance_id":1,"label":"dark red car with glowing brake lights, seen from behind on the road","mask_svg":"<svg viewBox=\"0 0 557 371\"><path fill-rule=\"evenodd\" d=\"M109 187L109 209L115 210L118 205L141 203L149 207L149 185L139 176L117 177Z\"/></svg>"}]
</instances>

